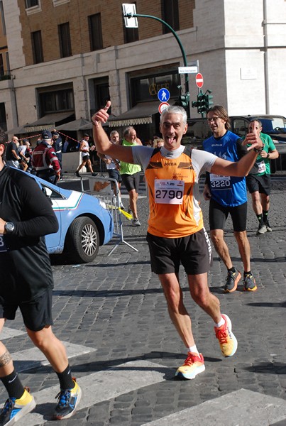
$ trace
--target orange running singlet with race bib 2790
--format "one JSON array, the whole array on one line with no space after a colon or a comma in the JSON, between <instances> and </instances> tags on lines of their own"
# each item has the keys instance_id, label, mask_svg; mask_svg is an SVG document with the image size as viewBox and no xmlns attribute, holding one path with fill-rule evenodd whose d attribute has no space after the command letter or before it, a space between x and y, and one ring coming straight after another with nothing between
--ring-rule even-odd
<instances>
[{"instance_id":1,"label":"orange running singlet with race bib 2790","mask_svg":"<svg viewBox=\"0 0 286 426\"><path fill-rule=\"evenodd\" d=\"M160 152L155 153L145 170L145 180L150 234L180 238L204 227L197 175L189 155L183 152L178 158L165 158Z\"/></svg>"}]
</instances>

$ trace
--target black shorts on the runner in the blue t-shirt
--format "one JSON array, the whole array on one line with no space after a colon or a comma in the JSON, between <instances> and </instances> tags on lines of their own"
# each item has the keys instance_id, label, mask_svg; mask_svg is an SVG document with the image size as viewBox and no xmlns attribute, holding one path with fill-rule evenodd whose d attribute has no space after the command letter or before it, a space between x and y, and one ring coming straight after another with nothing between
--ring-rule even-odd
<instances>
[{"instance_id":1,"label":"black shorts on the runner in the blue t-shirt","mask_svg":"<svg viewBox=\"0 0 286 426\"><path fill-rule=\"evenodd\" d=\"M209 201L209 229L224 229L226 219L231 215L233 231L246 230L247 202L236 207L224 207L214 200Z\"/></svg>"}]
</instances>

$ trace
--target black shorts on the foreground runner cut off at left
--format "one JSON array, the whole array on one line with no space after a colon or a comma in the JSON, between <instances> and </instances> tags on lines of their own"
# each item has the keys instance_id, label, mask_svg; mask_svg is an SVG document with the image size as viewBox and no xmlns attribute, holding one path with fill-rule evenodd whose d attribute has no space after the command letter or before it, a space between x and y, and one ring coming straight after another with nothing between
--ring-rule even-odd
<instances>
[{"instance_id":1,"label":"black shorts on the foreground runner cut off at left","mask_svg":"<svg viewBox=\"0 0 286 426\"><path fill-rule=\"evenodd\" d=\"M0 318L15 320L16 310L19 307L26 327L32 332L39 332L45 325L53 325L52 295L53 289L48 288L34 300L17 304L0 297Z\"/></svg>"}]
</instances>

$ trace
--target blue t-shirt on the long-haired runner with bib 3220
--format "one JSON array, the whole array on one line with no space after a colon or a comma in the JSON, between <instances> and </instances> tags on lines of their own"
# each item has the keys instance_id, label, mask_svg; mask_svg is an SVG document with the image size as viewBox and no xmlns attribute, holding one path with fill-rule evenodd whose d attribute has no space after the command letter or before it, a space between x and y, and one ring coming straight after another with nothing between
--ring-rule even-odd
<instances>
[{"instance_id":1,"label":"blue t-shirt on the long-haired runner with bib 3220","mask_svg":"<svg viewBox=\"0 0 286 426\"><path fill-rule=\"evenodd\" d=\"M231 131L226 131L221 138L211 136L203 143L204 151L217 155L224 160L238 161L247 151L242 146L242 139ZM224 207L236 207L247 202L246 178L207 175L207 183L211 190L211 199Z\"/></svg>"}]
</instances>

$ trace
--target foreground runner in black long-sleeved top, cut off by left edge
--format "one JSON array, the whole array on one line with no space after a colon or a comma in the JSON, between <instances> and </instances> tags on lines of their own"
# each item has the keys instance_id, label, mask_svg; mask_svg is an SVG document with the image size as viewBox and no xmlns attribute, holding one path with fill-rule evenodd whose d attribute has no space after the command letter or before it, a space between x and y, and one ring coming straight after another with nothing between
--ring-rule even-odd
<instances>
[{"instance_id":1,"label":"foreground runner in black long-sleeved top, cut off by left edge","mask_svg":"<svg viewBox=\"0 0 286 426\"><path fill-rule=\"evenodd\" d=\"M3 162L0 143L0 332L18 307L28 336L45 354L60 381L54 420L75 413L81 389L72 378L65 346L53 334L53 274L45 246L46 234L58 229L50 201L33 178ZM0 379L9 399L0 426L12 425L35 407L35 400L18 378L6 346L0 342Z\"/></svg>"}]
</instances>

